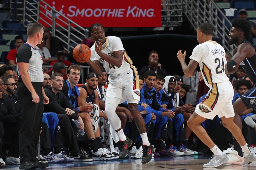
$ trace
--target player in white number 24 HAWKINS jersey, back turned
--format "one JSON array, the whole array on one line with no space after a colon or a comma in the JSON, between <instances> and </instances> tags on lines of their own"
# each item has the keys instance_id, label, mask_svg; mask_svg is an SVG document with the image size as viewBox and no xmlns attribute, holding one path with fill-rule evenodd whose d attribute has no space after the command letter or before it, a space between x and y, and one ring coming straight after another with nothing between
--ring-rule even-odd
<instances>
[{"instance_id":1,"label":"player in white number 24 HAWKINS jersey, back turned","mask_svg":"<svg viewBox=\"0 0 256 170\"><path fill-rule=\"evenodd\" d=\"M213 27L210 23L204 23L198 27L197 41L199 45L194 48L192 55L189 57L191 60L188 65L185 62L186 51L184 54L182 54L181 50L177 53L184 74L187 77L192 76L199 63L204 82L210 87L209 93L196 106L196 110L187 124L196 136L213 152L213 158L209 163L204 164L204 167L217 167L227 162L229 160L228 156L213 143L201 123L218 115L222 120L223 126L232 133L242 147L245 157L250 157L249 159L244 159L242 163L242 166L246 166L255 160L255 154L250 153L242 131L234 123L235 114L232 106L234 89L227 77L225 50L220 44L212 41L212 33Z\"/></svg>"}]
</instances>

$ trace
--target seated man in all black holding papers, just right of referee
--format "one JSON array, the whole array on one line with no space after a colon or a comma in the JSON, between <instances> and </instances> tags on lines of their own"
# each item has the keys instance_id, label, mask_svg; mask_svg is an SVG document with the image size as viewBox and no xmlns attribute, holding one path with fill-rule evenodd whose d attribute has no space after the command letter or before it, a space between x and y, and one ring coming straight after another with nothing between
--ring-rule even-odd
<instances>
[{"instance_id":1,"label":"seated man in all black holding papers, just right of referee","mask_svg":"<svg viewBox=\"0 0 256 170\"><path fill-rule=\"evenodd\" d=\"M63 86L63 77L60 73L53 73L51 76L51 86L44 88L44 92L49 98L49 104L44 105L44 112L56 113L62 126L62 135L65 137L68 148L70 149L70 157L75 161L88 161L88 155L84 155L77 144L76 135L73 131L70 119L77 120L80 125L77 128L84 130L84 123L77 110L67 100L67 97L60 92ZM73 123L73 122L72 122Z\"/></svg>"}]
</instances>

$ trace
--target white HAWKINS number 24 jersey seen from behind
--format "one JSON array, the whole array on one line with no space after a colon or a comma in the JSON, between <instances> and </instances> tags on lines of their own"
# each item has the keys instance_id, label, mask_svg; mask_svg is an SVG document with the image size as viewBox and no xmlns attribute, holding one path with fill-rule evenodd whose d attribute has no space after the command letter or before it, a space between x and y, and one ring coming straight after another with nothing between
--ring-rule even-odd
<instances>
[{"instance_id":1,"label":"white HAWKINS number 24 jersey seen from behind","mask_svg":"<svg viewBox=\"0 0 256 170\"><path fill-rule=\"evenodd\" d=\"M193 49L189 58L199 63L204 82L208 87L229 80L225 74L225 64L227 64L225 55L224 48L215 41L206 41Z\"/></svg>"}]
</instances>

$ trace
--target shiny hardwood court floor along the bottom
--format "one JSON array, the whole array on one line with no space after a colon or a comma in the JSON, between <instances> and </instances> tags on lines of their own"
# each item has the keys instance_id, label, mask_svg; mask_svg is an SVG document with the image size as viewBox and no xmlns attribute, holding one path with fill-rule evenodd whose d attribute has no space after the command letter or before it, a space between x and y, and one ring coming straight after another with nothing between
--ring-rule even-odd
<instances>
[{"instance_id":1,"label":"shiny hardwood court floor along the bottom","mask_svg":"<svg viewBox=\"0 0 256 170\"><path fill-rule=\"evenodd\" d=\"M176 156L158 157L147 164L141 164L141 159L117 159L112 161L74 162L50 164L45 169L67 170L256 170L256 162L249 166L221 165L217 168L203 168L203 164L209 162L210 156ZM0 168L4 169L4 168ZM19 169L18 165L7 165L5 169Z\"/></svg>"}]
</instances>

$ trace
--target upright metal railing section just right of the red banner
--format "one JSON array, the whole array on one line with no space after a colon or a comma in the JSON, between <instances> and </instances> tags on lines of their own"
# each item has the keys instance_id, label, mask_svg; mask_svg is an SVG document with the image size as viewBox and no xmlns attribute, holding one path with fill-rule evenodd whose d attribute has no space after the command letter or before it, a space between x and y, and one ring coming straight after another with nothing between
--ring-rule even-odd
<instances>
[{"instance_id":1,"label":"upright metal railing section just right of the red banner","mask_svg":"<svg viewBox=\"0 0 256 170\"><path fill-rule=\"evenodd\" d=\"M181 26L183 22L184 0L163 0L162 6L162 26L175 27Z\"/></svg>"}]
</instances>

